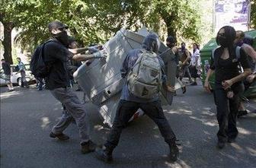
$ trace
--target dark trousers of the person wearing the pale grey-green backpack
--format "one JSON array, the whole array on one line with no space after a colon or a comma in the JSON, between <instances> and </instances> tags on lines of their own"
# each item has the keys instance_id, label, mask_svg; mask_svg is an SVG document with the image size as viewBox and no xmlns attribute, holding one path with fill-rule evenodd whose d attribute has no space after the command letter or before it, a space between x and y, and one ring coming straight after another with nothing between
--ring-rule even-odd
<instances>
[{"instance_id":1,"label":"dark trousers of the person wearing the pale grey-green backpack","mask_svg":"<svg viewBox=\"0 0 256 168\"><path fill-rule=\"evenodd\" d=\"M150 119L152 119L165 138L168 144L171 144L176 140L174 132L171 130L167 119L162 110L160 101L155 101L152 103L136 103L132 101L120 100L117 106L117 114L114 119L114 124L111 128L110 135L107 138L107 143L104 144L106 147L114 149L117 146L120 139L122 129L133 116L138 109L142 109Z\"/></svg>"}]
</instances>

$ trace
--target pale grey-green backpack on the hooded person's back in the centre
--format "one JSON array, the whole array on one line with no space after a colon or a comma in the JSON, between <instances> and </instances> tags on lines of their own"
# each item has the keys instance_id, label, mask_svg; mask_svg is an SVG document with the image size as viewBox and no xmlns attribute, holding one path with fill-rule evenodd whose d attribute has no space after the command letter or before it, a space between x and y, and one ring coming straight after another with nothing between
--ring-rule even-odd
<instances>
[{"instance_id":1,"label":"pale grey-green backpack on the hooded person's back in the centre","mask_svg":"<svg viewBox=\"0 0 256 168\"><path fill-rule=\"evenodd\" d=\"M136 97L152 99L162 87L162 71L155 52L142 50L142 54L127 76L128 89Z\"/></svg>"}]
</instances>

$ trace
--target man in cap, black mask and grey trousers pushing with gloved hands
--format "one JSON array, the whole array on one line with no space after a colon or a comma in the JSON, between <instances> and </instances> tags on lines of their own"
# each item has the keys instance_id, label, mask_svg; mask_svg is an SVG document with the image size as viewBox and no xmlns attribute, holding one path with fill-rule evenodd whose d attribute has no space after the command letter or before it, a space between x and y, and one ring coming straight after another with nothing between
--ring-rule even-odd
<instances>
[{"instance_id":1,"label":"man in cap, black mask and grey trousers pushing with gloved hands","mask_svg":"<svg viewBox=\"0 0 256 168\"><path fill-rule=\"evenodd\" d=\"M88 47L68 49L67 28L65 24L59 21L53 21L48 24L52 40L46 43L43 49L44 61L46 65L50 66L50 74L46 77L46 89L49 89L53 97L66 106L68 111L68 113L63 113L60 121L53 126L50 137L59 138L59 140L69 139L69 136L62 132L72 122L73 117L81 138L82 153L86 154L94 151L96 144L91 141L89 136L88 114L85 112L85 105L80 102L76 94L69 87L67 62L69 59L75 59L76 61L105 59L107 55L103 51L95 52L91 55L77 55L88 50Z\"/></svg>"}]
</instances>

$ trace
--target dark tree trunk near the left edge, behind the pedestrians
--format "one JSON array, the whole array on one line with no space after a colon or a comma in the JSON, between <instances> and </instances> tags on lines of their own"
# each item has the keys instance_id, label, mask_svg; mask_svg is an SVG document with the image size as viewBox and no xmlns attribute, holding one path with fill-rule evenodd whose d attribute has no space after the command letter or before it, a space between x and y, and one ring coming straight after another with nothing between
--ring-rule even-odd
<instances>
[{"instance_id":1,"label":"dark tree trunk near the left edge, behind the pedestrians","mask_svg":"<svg viewBox=\"0 0 256 168\"><path fill-rule=\"evenodd\" d=\"M4 40L2 42L4 46L4 58L6 62L13 64L11 57L11 30L13 29L12 23L2 23L4 25Z\"/></svg>"}]
</instances>

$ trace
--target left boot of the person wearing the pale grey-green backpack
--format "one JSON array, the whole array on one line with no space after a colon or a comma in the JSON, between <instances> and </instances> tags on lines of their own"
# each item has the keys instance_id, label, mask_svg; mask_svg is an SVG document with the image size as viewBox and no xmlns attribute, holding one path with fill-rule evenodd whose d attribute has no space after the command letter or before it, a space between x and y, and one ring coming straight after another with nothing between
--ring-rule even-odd
<instances>
[{"instance_id":1,"label":"left boot of the person wearing the pale grey-green backpack","mask_svg":"<svg viewBox=\"0 0 256 168\"><path fill-rule=\"evenodd\" d=\"M104 161L105 163L111 163L113 161L112 152L113 149L108 147L97 148L96 156L99 160Z\"/></svg>"}]
</instances>

